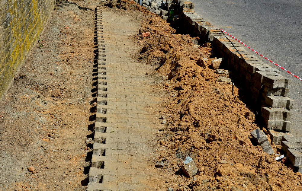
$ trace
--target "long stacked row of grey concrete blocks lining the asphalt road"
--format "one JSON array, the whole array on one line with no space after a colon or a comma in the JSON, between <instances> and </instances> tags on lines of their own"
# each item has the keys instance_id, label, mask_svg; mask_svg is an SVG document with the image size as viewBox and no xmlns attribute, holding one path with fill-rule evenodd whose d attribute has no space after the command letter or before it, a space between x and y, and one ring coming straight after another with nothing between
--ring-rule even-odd
<instances>
[{"instance_id":1,"label":"long stacked row of grey concrete blocks lining the asphalt road","mask_svg":"<svg viewBox=\"0 0 302 191\"><path fill-rule=\"evenodd\" d=\"M224 57L224 63L238 72L247 93L252 95L251 100L256 109L262 112L266 128L289 131L290 109L294 104L288 97L291 80L281 76L278 69L250 55L241 43L224 35L219 28L209 25L194 9L187 8L191 2L178 0L175 5L185 32L213 42L217 52Z\"/></svg>"}]
</instances>

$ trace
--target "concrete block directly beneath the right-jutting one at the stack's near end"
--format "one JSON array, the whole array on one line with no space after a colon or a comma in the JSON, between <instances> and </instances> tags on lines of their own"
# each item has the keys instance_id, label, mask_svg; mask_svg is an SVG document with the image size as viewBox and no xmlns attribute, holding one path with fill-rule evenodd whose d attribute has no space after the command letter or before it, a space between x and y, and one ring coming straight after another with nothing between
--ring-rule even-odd
<instances>
[{"instance_id":1,"label":"concrete block directly beneath the right-jutting one at the stack's near end","mask_svg":"<svg viewBox=\"0 0 302 191\"><path fill-rule=\"evenodd\" d=\"M284 108L268 108L263 107L261 112L262 117L268 120L284 120L291 119L291 112Z\"/></svg>"}]
</instances>

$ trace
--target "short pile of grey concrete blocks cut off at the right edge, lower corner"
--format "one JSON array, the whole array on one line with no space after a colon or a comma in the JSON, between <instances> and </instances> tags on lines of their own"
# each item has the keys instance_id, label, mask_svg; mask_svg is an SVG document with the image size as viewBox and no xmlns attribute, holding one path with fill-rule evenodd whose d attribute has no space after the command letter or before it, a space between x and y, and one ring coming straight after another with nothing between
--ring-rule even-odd
<instances>
[{"instance_id":1,"label":"short pile of grey concrete blocks cut off at the right edge, lower corner","mask_svg":"<svg viewBox=\"0 0 302 191\"><path fill-rule=\"evenodd\" d=\"M275 145L282 145L284 155L302 173L302 138L295 138L290 133L274 130L268 130L268 135L271 136L271 142L274 142Z\"/></svg>"}]
</instances>

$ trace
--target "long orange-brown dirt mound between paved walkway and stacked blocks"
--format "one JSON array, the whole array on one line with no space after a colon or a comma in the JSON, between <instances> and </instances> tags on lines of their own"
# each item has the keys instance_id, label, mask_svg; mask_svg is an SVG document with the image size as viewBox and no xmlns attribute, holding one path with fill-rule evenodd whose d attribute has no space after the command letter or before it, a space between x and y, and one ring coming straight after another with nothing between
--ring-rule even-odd
<instances>
[{"instance_id":1,"label":"long orange-brown dirt mound between paved walkway and stacked blocks","mask_svg":"<svg viewBox=\"0 0 302 191\"><path fill-rule=\"evenodd\" d=\"M293 172L286 160L276 161L276 155L264 153L252 140L250 132L259 126L246 106L236 75L214 70L210 64L217 55L211 45L194 45L192 37L177 34L170 25L147 13L142 15L140 33L133 37L141 46L138 59L156 66L165 76L157 88L169 92L167 101L159 106L166 123L154 140L158 157L153 162L165 163L159 172L167 180L160 187L299 190L301 174ZM150 35L143 37L146 32ZM235 85L218 82L221 77L232 78ZM280 146L272 147L280 154ZM183 176L180 169L187 156L198 169L192 178Z\"/></svg>"}]
</instances>

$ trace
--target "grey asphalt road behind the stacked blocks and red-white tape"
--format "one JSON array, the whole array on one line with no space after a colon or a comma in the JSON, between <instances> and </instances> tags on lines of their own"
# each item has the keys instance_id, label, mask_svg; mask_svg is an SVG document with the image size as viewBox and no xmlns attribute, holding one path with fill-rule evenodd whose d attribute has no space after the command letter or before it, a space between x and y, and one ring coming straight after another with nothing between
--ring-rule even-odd
<instances>
[{"instance_id":1,"label":"grey asphalt road behind the stacked blocks and red-white tape","mask_svg":"<svg viewBox=\"0 0 302 191\"><path fill-rule=\"evenodd\" d=\"M302 78L301 0L191 0L198 15ZM247 49L247 48L246 48ZM256 54L256 53L254 53ZM260 57L260 56L259 56ZM269 65L272 63L263 59ZM278 68L277 66L273 66ZM281 70L279 68L279 70ZM291 132L302 136L302 81L291 78Z\"/></svg>"}]
</instances>

